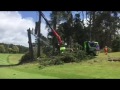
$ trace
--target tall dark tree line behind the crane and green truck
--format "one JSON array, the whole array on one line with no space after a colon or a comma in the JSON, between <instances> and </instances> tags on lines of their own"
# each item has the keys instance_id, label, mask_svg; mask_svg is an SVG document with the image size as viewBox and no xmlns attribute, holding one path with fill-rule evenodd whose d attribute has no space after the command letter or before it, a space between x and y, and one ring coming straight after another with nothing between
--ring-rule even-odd
<instances>
[{"instance_id":1,"label":"tall dark tree line behind the crane and green truck","mask_svg":"<svg viewBox=\"0 0 120 90\"><path fill-rule=\"evenodd\" d=\"M83 46L84 41L98 41L100 48L108 46L113 51L120 51L120 12L119 11L52 11L49 23L59 33L67 47L73 43ZM58 44L56 37L48 28L53 50Z\"/></svg>"}]
</instances>

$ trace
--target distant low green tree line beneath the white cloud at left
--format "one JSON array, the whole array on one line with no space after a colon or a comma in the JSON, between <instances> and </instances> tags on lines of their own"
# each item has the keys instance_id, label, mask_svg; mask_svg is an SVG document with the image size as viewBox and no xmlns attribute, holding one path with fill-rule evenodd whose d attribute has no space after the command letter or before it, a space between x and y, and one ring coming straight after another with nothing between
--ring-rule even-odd
<instances>
[{"instance_id":1,"label":"distant low green tree line beneath the white cloud at left","mask_svg":"<svg viewBox=\"0 0 120 90\"><path fill-rule=\"evenodd\" d=\"M25 53L28 47L22 45L0 43L0 53Z\"/></svg>"}]
</instances>

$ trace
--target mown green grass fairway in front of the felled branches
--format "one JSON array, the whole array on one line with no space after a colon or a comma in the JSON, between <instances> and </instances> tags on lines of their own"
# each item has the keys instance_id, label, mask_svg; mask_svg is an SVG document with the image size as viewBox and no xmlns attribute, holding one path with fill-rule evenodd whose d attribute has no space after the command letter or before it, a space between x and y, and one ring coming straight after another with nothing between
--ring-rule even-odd
<instances>
[{"instance_id":1,"label":"mown green grass fairway in front of the felled branches","mask_svg":"<svg viewBox=\"0 0 120 90\"><path fill-rule=\"evenodd\" d=\"M120 52L108 53L111 57L120 57ZM2 57L3 56L3 57ZM1 64L15 64L19 54L0 55L3 59L9 56L9 62L0 58ZM38 63L19 66L0 67L1 79L120 79L120 62L107 61L108 56L100 53L92 60L80 63L48 66L40 68Z\"/></svg>"}]
</instances>

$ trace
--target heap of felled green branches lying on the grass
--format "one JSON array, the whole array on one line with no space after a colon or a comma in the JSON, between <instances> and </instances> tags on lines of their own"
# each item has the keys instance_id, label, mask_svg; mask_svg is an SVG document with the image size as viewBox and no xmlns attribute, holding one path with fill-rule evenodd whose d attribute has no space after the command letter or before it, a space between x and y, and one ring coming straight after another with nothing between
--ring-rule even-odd
<instances>
[{"instance_id":1,"label":"heap of felled green branches lying on the grass","mask_svg":"<svg viewBox=\"0 0 120 90\"><path fill-rule=\"evenodd\" d=\"M90 60L94 56L88 56L86 55L85 51L78 50L77 52L70 52L70 51L65 51L64 53L54 56L51 58L49 57L44 57L44 58L39 58L39 63L40 65L47 66L47 65L59 65L63 63L71 63L71 62L80 62L82 60Z\"/></svg>"}]
</instances>

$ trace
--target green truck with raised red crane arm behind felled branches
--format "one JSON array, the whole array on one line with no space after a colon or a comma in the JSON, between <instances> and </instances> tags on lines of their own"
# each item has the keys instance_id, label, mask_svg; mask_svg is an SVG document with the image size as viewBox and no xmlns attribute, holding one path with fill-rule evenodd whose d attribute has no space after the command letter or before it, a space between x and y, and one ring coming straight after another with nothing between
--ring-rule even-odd
<instances>
[{"instance_id":1,"label":"green truck with raised red crane arm behind felled branches","mask_svg":"<svg viewBox=\"0 0 120 90\"><path fill-rule=\"evenodd\" d=\"M66 48L65 48L65 45L63 44L63 41L62 41L60 35L56 32L56 30L54 30L51 27L51 25L49 24L48 20L46 19L45 15L42 12L41 12L41 16L44 18L44 20L46 21L46 23L50 27L51 31L53 32L53 34L57 37L57 40L59 42L60 53L64 53ZM91 54L94 56L98 55L97 46L99 47L99 43L95 42L95 41L85 41L84 42L84 50L87 52L87 54Z\"/></svg>"}]
</instances>

